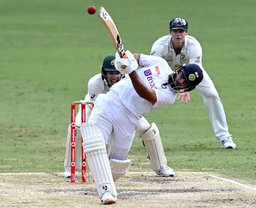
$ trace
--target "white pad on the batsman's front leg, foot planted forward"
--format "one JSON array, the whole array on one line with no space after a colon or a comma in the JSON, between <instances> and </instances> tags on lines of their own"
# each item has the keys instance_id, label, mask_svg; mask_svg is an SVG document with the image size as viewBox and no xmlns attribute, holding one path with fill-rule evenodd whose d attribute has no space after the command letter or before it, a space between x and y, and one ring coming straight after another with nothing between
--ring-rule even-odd
<instances>
[{"instance_id":1,"label":"white pad on the batsman's front leg, foot planted forward","mask_svg":"<svg viewBox=\"0 0 256 208\"><path fill-rule=\"evenodd\" d=\"M105 192L111 192L117 196L102 132L93 123L84 123L80 132L84 139L84 153L99 197L102 197Z\"/></svg>"}]
</instances>

